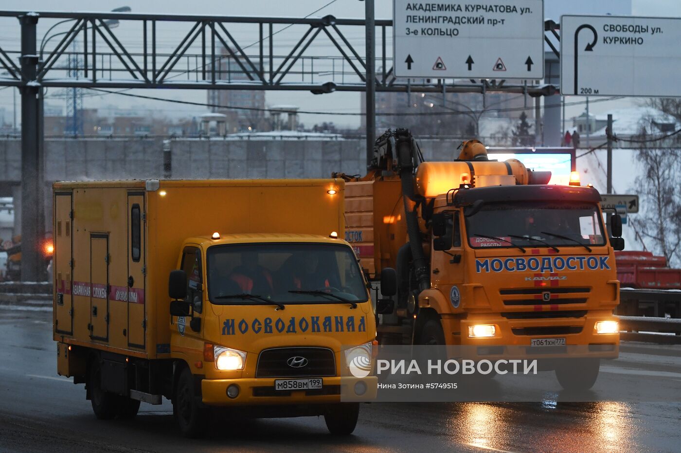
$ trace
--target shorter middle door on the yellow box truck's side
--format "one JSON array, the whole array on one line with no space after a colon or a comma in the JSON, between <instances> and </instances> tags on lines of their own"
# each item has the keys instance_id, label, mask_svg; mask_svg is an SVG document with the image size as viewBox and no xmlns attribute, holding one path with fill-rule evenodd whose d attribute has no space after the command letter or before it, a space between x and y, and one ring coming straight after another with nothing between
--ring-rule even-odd
<instances>
[{"instance_id":1,"label":"shorter middle door on the yellow box truck's side","mask_svg":"<svg viewBox=\"0 0 681 453\"><path fill-rule=\"evenodd\" d=\"M109 341L109 235L90 234L90 337Z\"/></svg>"}]
</instances>

